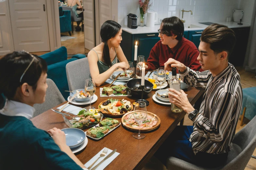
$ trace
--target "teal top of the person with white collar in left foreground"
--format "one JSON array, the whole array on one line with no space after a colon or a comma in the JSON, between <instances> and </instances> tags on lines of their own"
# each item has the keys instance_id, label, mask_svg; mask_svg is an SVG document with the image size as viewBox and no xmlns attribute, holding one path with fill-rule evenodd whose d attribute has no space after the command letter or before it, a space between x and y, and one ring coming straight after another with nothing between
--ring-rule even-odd
<instances>
[{"instance_id":1,"label":"teal top of the person with white collar in left foreground","mask_svg":"<svg viewBox=\"0 0 256 170\"><path fill-rule=\"evenodd\" d=\"M82 170L52 137L22 116L0 114L0 169Z\"/></svg>"}]
</instances>

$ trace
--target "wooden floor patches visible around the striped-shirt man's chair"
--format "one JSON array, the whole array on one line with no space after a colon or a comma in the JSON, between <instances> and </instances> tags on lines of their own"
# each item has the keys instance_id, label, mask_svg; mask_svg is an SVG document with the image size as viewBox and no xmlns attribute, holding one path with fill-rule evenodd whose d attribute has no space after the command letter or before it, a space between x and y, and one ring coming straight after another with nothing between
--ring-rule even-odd
<instances>
[{"instance_id":1,"label":"wooden floor patches visible around the striped-shirt man's chair","mask_svg":"<svg viewBox=\"0 0 256 170\"><path fill-rule=\"evenodd\" d=\"M243 67L236 67L236 70L238 71L241 77L241 85L243 89L256 86L255 73L245 71ZM245 118L243 122L244 122L243 126L240 126L240 123L241 123L241 115L240 115L237 126L236 126L236 133L240 131L243 127L245 127L245 125L249 122L249 120ZM192 126L193 122L187 116L185 116L184 125ZM256 149L254 150L253 155L256 156ZM150 161L145 165L143 170L166 170L166 167L157 158L153 156L150 159ZM256 159L250 158L250 161L247 163L245 170L256 170Z\"/></svg>"}]
</instances>

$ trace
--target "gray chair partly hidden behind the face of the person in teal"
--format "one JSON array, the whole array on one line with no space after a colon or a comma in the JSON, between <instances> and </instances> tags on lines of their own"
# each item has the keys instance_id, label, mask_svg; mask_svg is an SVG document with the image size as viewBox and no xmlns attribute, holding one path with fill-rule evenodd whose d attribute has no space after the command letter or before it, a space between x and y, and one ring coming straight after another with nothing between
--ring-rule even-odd
<instances>
[{"instance_id":1,"label":"gray chair partly hidden behind the face of the person in teal","mask_svg":"<svg viewBox=\"0 0 256 170\"><path fill-rule=\"evenodd\" d=\"M46 83L48 89L46 90L45 102L34 105L34 108L36 109L34 117L66 101L56 84L51 79L47 78Z\"/></svg>"}]
</instances>

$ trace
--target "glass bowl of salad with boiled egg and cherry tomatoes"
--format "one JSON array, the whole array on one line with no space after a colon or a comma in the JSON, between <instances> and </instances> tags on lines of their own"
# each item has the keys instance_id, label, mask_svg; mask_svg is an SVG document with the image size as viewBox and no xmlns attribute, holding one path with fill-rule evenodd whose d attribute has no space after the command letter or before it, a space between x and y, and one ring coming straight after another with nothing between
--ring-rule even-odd
<instances>
[{"instance_id":1,"label":"glass bowl of salad with boiled egg and cherry tomatoes","mask_svg":"<svg viewBox=\"0 0 256 170\"><path fill-rule=\"evenodd\" d=\"M100 113L98 109L89 109L87 110L86 108L81 108L79 113L77 114L77 117L80 117L80 120L76 121L71 118L66 118L64 115L63 119L65 123L71 127L71 128L79 128L79 129L84 129L88 127L95 126L98 124L102 118L103 114Z\"/></svg>"}]
</instances>

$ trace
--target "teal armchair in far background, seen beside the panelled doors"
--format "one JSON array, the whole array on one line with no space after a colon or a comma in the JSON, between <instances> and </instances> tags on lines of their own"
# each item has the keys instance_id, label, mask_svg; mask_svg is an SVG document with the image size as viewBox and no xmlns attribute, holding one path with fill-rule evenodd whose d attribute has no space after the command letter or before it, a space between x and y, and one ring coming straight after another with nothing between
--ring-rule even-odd
<instances>
[{"instance_id":1,"label":"teal armchair in far background, seen beside the panelled doors","mask_svg":"<svg viewBox=\"0 0 256 170\"><path fill-rule=\"evenodd\" d=\"M68 32L71 35L71 12L69 10L63 10L59 7L60 15L60 33Z\"/></svg>"}]
</instances>

